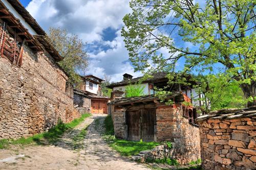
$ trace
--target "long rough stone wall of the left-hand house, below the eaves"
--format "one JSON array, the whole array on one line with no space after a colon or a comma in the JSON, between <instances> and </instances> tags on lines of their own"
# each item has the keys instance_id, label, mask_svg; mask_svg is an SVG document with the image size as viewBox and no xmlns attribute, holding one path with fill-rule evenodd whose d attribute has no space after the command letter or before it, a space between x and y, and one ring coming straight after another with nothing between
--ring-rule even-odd
<instances>
[{"instance_id":1,"label":"long rough stone wall of the left-hand house, below the eaves","mask_svg":"<svg viewBox=\"0 0 256 170\"><path fill-rule=\"evenodd\" d=\"M33 53L26 45L21 67L0 58L0 138L30 136L58 119L79 117L67 79L47 52Z\"/></svg>"}]
</instances>

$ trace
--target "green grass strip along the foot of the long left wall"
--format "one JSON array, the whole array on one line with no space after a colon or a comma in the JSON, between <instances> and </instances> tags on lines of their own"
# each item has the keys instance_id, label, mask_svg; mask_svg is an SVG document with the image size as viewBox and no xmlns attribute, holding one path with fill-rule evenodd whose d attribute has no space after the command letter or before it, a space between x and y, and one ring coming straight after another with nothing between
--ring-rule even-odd
<instances>
[{"instance_id":1,"label":"green grass strip along the foot of the long left wall","mask_svg":"<svg viewBox=\"0 0 256 170\"><path fill-rule=\"evenodd\" d=\"M58 124L49 129L48 132L40 133L33 135L28 138L19 138L19 139L2 139L0 140L0 149L7 149L10 145L27 145L31 143L36 144L54 144L59 140L59 137L66 131L72 130L77 125L79 125L83 120L91 114L82 114L80 118L74 119L72 122L64 124L61 121L58 121Z\"/></svg>"}]
</instances>

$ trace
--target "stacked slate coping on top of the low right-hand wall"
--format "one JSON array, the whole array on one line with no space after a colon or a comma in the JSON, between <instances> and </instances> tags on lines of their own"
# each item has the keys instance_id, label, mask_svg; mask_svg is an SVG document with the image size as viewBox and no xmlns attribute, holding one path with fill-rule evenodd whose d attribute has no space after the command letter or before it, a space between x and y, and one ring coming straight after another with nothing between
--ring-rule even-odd
<instances>
[{"instance_id":1,"label":"stacked slate coping on top of the low right-hand wall","mask_svg":"<svg viewBox=\"0 0 256 170\"><path fill-rule=\"evenodd\" d=\"M203 122L208 119L235 119L242 117L256 117L256 106L244 109L221 109L211 111L209 114L197 118L197 122Z\"/></svg>"}]
</instances>

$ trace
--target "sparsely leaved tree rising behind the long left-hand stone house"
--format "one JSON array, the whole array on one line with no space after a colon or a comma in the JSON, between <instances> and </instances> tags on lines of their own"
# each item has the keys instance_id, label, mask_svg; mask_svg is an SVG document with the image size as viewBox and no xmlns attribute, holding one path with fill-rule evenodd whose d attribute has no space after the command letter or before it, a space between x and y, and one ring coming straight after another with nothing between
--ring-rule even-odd
<instances>
[{"instance_id":1,"label":"sparsely leaved tree rising behind the long left-hand stone house","mask_svg":"<svg viewBox=\"0 0 256 170\"><path fill-rule=\"evenodd\" d=\"M60 28L50 28L48 36L49 41L63 57L59 65L67 72L72 84L79 84L82 80L76 70L84 71L88 67L89 56L84 50L85 44L77 35Z\"/></svg>"}]
</instances>

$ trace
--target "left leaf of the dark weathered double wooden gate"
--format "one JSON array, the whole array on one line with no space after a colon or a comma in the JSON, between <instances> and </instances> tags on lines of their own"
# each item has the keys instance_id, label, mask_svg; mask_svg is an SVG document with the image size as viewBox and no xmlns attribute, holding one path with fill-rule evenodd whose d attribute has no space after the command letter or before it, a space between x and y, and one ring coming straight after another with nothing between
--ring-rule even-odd
<instances>
[{"instance_id":1,"label":"left leaf of the dark weathered double wooden gate","mask_svg":"<svg viewBox=\"0 0 256 170\"><path fill-rule=\"evenodd\" d=\"M126 112L127 139L140 141L140 110Z\"/></svg>"}]
</instances>

